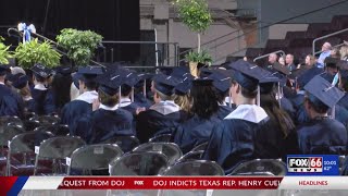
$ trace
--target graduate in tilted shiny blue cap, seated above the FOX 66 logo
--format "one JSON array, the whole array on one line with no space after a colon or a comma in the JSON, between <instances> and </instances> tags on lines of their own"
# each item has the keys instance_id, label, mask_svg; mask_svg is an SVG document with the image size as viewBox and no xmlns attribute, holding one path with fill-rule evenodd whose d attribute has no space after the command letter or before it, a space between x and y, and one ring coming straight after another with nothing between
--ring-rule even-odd
<instances>
[{"instance_id":1,"label":"graduate in tilted shiny blue cap, seated above the FOX 66 logo","mask_svg":"<svg viewBox=\"0 0 348 196\"><path fill-rule=\"evenodd\" d=\"M347 130L328 117L344 93L321 76L315 76L306 86L304 108L310 122L298 127L299 147L304 155L345 155Z\"/></svg>"}]
</instances>

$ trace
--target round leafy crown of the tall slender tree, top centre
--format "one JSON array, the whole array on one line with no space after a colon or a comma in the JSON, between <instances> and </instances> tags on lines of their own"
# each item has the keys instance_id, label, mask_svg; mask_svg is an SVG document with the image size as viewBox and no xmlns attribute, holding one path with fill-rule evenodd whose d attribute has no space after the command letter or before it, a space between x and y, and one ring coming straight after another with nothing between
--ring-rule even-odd
<instances>
[{"instance_id":1,"label":"round leafy crown of the tall slender tree, top centre","mask_svg":"<svg viewBox=\"0 0 348 196\"><path fill-rule=\"evenodd\" d=\"M183 23L192 32L202 33L212 23L207 0L176 0L174 4Z\"/></svg>"}]
</instances>

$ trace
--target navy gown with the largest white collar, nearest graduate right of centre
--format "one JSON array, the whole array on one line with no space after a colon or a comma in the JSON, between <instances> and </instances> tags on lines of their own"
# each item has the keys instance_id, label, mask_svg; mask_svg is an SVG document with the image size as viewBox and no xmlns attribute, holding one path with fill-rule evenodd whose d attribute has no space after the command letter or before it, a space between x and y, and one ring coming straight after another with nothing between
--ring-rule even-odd
<instances>
[{"instance_id":1,"label":"navy gown with the largest white collar, nearest graduate right of centre","mask_svg":"<svg viewBox=\"0 0 348 196\"><path fill-rule=\"evenodd\" d=\"M213 127L203 159L217 162L228 174L243 161L260 157L254 147L256 133L266 121L262 108L238 106Z\"/></svg>"}]
</instances>

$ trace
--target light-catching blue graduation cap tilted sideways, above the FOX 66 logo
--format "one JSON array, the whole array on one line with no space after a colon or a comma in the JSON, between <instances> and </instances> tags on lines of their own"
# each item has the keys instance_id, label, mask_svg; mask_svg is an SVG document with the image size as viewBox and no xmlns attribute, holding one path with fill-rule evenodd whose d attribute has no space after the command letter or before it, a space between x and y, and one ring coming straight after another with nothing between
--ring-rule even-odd
<instances>
[{"instance_id":1,"label":"light-catching blue graduation cap tilted sideways, above the FOX 66 logo","mask_svg":"<svg viewBox=\"0 0 348 196\"><path fill-rule=\"evenodd\" d=\"M304 90L310 94L308 98L311 100L311 102L314 105L322 102L330 108L333 108L345 95L343 91L319 75L313 77L304 86Z\"/></svg>"}]
</instances>

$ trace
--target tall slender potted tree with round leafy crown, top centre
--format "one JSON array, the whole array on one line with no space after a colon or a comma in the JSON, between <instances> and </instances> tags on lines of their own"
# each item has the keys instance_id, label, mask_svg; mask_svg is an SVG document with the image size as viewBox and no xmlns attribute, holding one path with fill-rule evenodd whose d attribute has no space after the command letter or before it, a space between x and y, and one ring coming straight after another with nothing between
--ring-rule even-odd
<instances>
[{"instance_id":1,"label":"tall slender potted tree with round leafy crown, top centre","mask_svg":"<svg viewBox=\"0 0 348 196\"><path fill-rule=\"evenodd\" d=\"M211 62L211 57L200 47L200 35L206 32L212 23L207 0L176 0L179 19L191 30L197 33L197 52L191 51L186 56L189 62L190 73L198 77L198 63Z\"/></svg>"}]
</instances>

